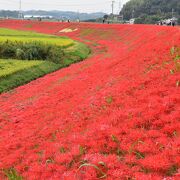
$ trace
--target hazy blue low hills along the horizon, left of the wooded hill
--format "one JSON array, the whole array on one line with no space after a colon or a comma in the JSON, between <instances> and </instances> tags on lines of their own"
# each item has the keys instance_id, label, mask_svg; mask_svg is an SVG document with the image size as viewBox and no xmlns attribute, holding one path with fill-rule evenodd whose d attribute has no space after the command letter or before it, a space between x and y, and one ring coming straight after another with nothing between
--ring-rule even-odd
<instances>
[{"instance_id":1,"label":"hazy blue low hills along the horizon, left of the wooded hill","mask_svg":"<svg viewBox=\"0 0 180 180\"><path fill-rule=\"evenodd\" d=\"M97 13L78 13L78 12L71 12L71 11L42 11L42 10L31 10L31 11L23 11L24 15L48 15L53 16L57 19L71 19L75 20L79 18L80 20L88 20L88 19L97 19L103 17L105 13L97 12ZM0 11L0 17L18 17L18 11Z\"/></svg>"}]
</instances>

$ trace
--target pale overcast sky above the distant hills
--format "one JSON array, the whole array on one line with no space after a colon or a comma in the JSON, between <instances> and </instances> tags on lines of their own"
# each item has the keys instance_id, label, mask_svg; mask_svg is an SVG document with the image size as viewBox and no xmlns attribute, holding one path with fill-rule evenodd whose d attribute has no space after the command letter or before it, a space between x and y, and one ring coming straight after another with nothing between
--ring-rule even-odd
<instances>
[{"instance_id":1,"label":"pale overcast sky above the distant hills","mask_svg":"<svg viewBox=\"0 0 180 180\"><path fill-rule=\"evenodd\" d=\"M0 9L19 10L20 0L0 0ZM111 12L111 0L21 0L22 10L62 10L79 12ZM114 13L120 9L120 4L128 0L116 0Z\"/></svg>"}]
</instances>

